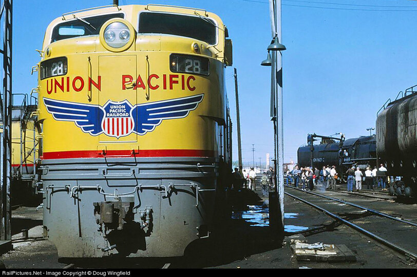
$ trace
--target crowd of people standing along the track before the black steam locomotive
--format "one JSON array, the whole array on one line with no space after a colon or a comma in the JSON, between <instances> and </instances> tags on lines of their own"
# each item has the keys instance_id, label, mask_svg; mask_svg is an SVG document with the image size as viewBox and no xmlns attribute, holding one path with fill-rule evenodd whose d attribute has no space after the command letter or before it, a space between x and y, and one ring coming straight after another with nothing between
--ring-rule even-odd
<instances>
[{"instance_id":1,"label":"crowd of people standing along the track before the black steam locomotive","mask_svg":"<svg viewBox=\"0 0 417 277\"><path fill-rule=\"evenodd\" d=\"M366 171L363 172L361 168L352 166L349 168L345 174L347 175L347 185L348 191L353 191L353 184L355 184L355 189L362 189L362 183L365 182L367 189L373 190L374 187L381 187L382 190L387 189L387 177L385 172L387 168L383 164L380 165L380 168L376 166L371 170L370 166L366 167ZM378 174L378 172L380 172ZM295 187L302 184L302 190L313 190L314 186L320 186L323 189L336 188L336 181L338 179L338 173L336 172L335 165L323 166L322 169L314 168L314 171L311 167L301 167L298 169L298 165L294 167L292 171L289 169L286 172L287 175L287 185L294 183Z\"/></svg>"}]
</instances>

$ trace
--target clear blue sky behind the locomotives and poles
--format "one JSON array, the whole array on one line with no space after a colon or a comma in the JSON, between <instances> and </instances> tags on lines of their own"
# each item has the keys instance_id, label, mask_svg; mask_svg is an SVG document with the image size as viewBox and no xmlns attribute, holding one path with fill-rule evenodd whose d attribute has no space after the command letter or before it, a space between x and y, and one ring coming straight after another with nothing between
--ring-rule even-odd
<instances>
[{"instance_id":1,"label":"clear blue sky behind the locomotives and poles","mask_svg":"<svg viewBox=\"0 0 417 277\"><path fill-rule=\"evenodd\" d=\"M223 19L233 39L233 67L238 72L243 162L252 162L254 143L255 162L260 157L264 164L266 153L273 155L270 68L260 66L271 41L268 0L119 2L204 8ZM35 49L42 48L51 20L111 3L14 0L13 92L28 93L36 87L30 69L40 60ZM306 143L308 133L342 132L347 138L369 134L366 128L375 126L376 112L384 102L417 83L417 1L282 0L282 4L282 43L288 49L283 52L284 157L289 162L296 161L297 148ZM236 122L233 67L225 74ZM236 125L233 131L237 159Z\"/></svg>"}]
</instances>

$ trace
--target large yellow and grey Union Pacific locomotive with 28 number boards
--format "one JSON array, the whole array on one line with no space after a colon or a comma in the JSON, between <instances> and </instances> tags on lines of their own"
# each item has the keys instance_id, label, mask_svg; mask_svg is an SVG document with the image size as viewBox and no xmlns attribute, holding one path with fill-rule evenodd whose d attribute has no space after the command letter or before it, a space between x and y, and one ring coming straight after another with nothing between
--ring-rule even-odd
<instances>
[{"instance_id":1,"label":"large yellow and grey Union Pacific locomotive with 28 number boards","mask_svg":"<svg viewBox=\"0 0 417 277\"><path fill-rule=\"evenodd\" d=\"M173 257L211 236L231 174L227 37L213 13L162 5L50 23L40 171L60 257Z\"/></svg>"}]
</instances>

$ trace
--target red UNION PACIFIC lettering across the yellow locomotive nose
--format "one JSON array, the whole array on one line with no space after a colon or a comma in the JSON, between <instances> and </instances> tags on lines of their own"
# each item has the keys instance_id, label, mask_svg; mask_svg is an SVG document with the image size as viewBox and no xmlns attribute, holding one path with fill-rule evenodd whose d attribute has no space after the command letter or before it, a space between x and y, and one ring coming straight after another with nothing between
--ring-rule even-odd
<instances>
[{"instance_id":1,"label":"red UNION PACIFIC lettering across the yellow locomotive nose","mask_svg":"<svg viewBox=\"0 0 417 277\"><path fill-rule=\"evenodd\" d=\"M192 75L185 76L183 74L150 74L149 77L145 78L145 81L139 74L134 80L134 77L128 74L121 76L122 90L129 89L146 89L146 86L150 90L158 90L162 88L163 90L189 90L194 91L196 87L194 86L194 81L196 78ZM81 92L86 86L88 90L91 91L91 88L94 87L101 91L101 81L102 77L97 76L96 80L88 77L85 80L81 76L75 77L54 77L46 81L46 92L48 94L57 93L57 92Z\"/></svg>"}]
</instances>

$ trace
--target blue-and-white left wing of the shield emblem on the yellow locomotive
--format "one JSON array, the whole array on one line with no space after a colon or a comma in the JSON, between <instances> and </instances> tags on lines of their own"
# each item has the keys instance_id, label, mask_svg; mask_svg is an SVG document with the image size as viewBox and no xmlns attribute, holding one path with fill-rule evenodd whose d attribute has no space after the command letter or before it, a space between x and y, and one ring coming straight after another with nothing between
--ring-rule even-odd
<instances>
[{"instance_id":1,"label":"blue-and-white left wing of the shield emblem on the yellow locomotive","mask_svg":"<svg viewBox=\"0 0 417 277\"><path fill-rule=\"evenodd\" d=\"M46 110L55 120L73 121L84 133L97 136L103 133L101 122L105 115L99 105L81 104L44 98Z\"/></svg>"}]
</instances>

